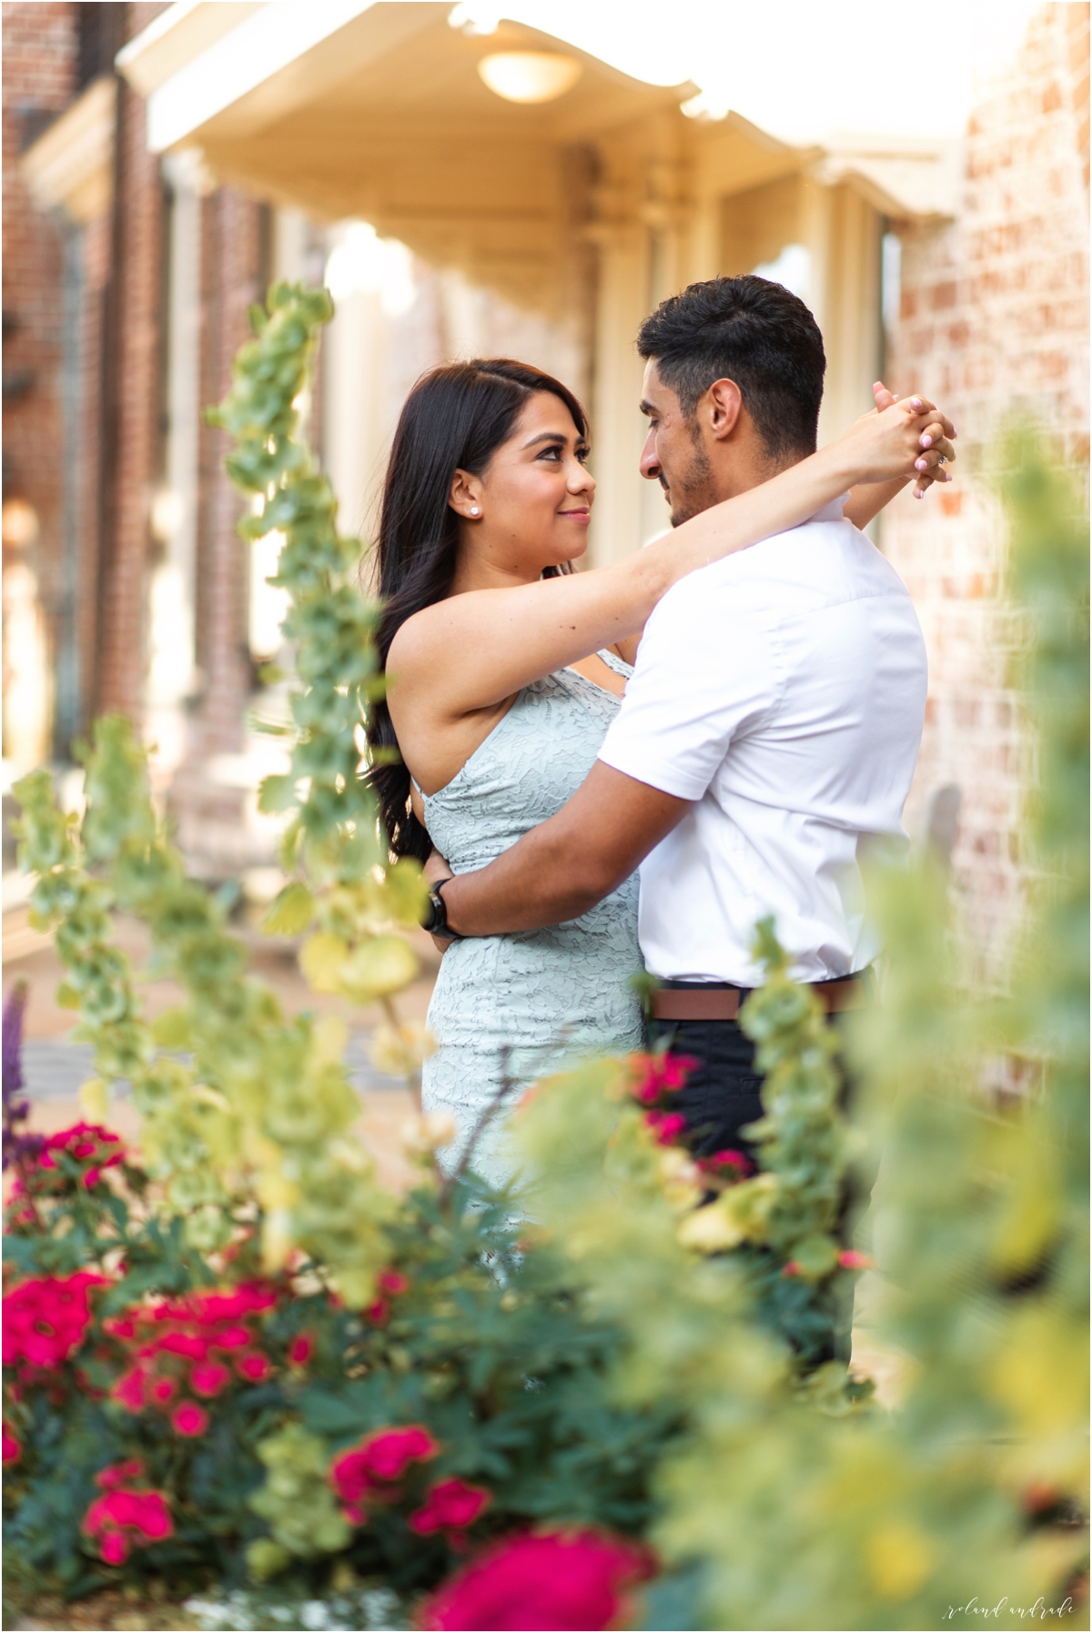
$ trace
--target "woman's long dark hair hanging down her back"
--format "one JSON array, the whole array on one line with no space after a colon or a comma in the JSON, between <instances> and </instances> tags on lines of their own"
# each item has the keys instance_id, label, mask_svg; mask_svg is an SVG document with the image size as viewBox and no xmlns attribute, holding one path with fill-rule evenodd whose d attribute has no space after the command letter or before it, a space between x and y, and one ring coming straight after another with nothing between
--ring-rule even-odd
<instances>
[{"instance_id":1,"label":"woman's long dark hair hanging down her back","mask_svg":"<svg viewBox=\"0 0 1092 1633\"><path fill-rule=\"evenodd\" d=\"M516 428L534 392L552 392L588 436L588 416L573 392L552 374L509 358L444 363L421 376L398 418L379 518L379 594L384 614L379 653L387 653L398 629L421 607L451 593L459 550L459 516L451 508L455 470L480 477ZM431 851L426 830L410 810L410 772L402 761L384 764L398 740L385 702L372 705L369 750L380 754L367 781L395 856Z\"/></svg>"}]
</instances>

